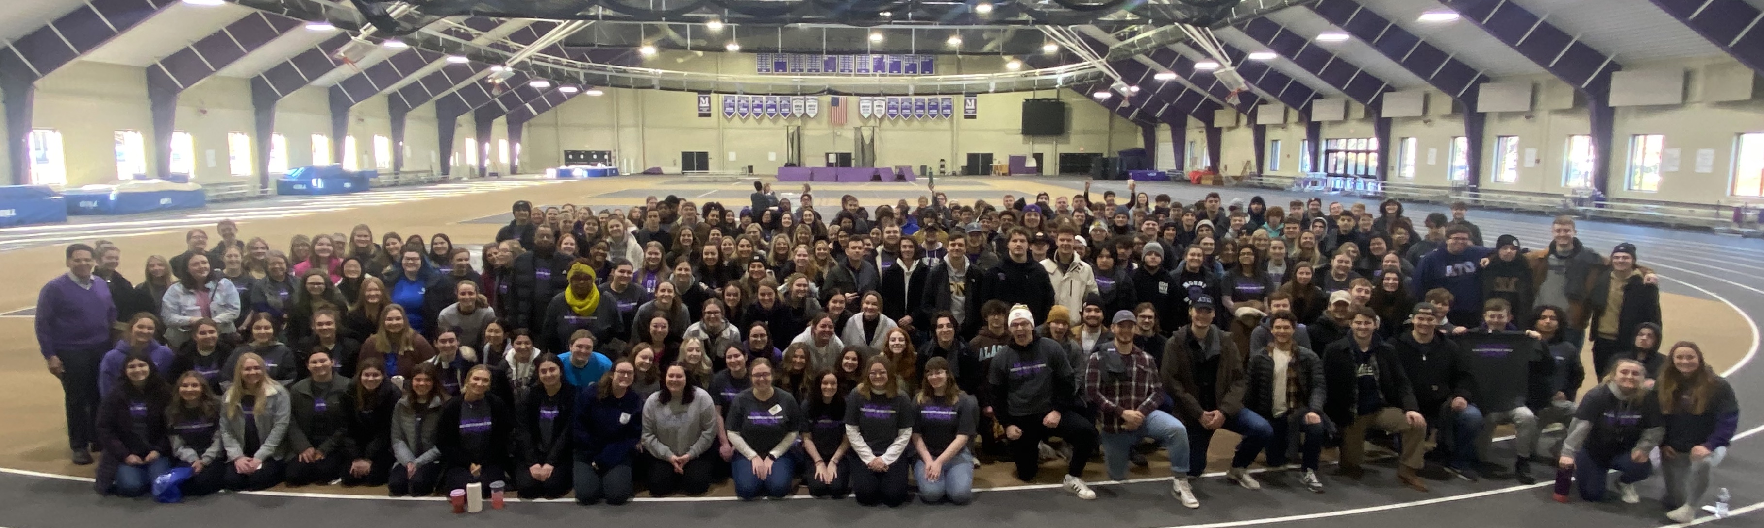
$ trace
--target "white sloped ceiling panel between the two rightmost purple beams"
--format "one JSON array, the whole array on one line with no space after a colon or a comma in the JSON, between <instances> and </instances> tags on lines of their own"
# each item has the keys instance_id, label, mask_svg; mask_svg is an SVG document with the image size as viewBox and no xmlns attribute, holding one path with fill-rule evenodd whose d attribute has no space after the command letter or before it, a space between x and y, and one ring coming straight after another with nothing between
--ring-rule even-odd
<instances>
[{"instance_id":1,"label":"white sloped ceiling panel between the two rightmost purple beams","mask_svg":"<svg viewBox=\"0 0 1764 528\"><path fill-rule=\"evenodd\" d=\"M1722 55L1708 39L1648 0L1508 0L1618 64ZM1764 0L1759 0L1764 2ZM1648 35L1637 39L1637 35Z\"/></svg>"}]
</instances>

